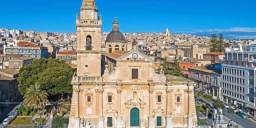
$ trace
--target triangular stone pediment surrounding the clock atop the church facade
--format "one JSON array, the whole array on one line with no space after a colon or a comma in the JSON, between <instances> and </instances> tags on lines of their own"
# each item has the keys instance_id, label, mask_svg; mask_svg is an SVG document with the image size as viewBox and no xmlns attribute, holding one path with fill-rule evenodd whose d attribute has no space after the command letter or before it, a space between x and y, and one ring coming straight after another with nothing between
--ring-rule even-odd
<instances>
[{"instance_id":1,"label":"triangular stone pediment surrounding the clock atop the church facade","mask_svg":"<svg viewBox=\"0 0 256 128\"><path fill-rule=\"evenodd\" d=\"M137 59L133 59L132 58L132 55L133 54L137 54L138 57ZM124 54L123 56L119 57L117 60L118 61L149 61L149 62L154 62L153 59L151 59L150 57L148 57L147 55L137 51L137 50L134 50L134 51L130 51L128 52L127 54Z\"/></svg>"}]
</instances>

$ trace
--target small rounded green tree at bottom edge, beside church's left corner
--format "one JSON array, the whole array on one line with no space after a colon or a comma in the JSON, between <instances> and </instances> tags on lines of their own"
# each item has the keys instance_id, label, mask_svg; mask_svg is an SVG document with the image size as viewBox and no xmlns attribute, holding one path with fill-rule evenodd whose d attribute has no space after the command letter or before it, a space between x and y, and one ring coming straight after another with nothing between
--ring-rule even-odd
<instances>
[{"instance_id":1,"label":"small rounded green tree at bottom edge, beside church's left corner","mask_svg":"<svg viewBox=\"0 0 256 128\"><path fill-rule=\"evenodd\" d=\"M68 119L60 115L55 115L52 119L52 128L63 128L68 124Z\"/></svg>"}]
</instances>

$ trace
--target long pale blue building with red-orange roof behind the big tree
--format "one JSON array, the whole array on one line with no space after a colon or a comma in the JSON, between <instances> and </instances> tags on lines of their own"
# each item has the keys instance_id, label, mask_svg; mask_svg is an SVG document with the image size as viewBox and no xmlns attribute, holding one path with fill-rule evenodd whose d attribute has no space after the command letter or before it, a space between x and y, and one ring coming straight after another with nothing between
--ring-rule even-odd
<instances>
[{"instance_id":1,"label":"long pale blue building with red-orange roof behind the big tree","mask_svg":"<svg viewBox=\"0 0 256 128\"><path fill-rule=\"evenodd\" d=\"M35 59L49 58L47 47L27 41L20 41L17 45L5 44L4 54L22 54Z\"/></svg>"}]
</instances>

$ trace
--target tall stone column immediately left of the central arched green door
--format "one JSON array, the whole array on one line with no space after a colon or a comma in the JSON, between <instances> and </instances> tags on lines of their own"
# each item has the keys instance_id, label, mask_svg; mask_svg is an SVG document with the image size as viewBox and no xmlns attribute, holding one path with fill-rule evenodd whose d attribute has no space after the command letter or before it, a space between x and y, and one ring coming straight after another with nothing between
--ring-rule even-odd
<instances>
[{"instance_id":1,"label":"tall stone column immediately left of the central arched green door","mask_svg":"<svg viewBox=\"0 0 256 128\"><path fill-rule=\"evenodd\" d=\"M122 117L121 117L121 84L117 84L117 128L122 128Z\"/></svg>"}]
</instances>

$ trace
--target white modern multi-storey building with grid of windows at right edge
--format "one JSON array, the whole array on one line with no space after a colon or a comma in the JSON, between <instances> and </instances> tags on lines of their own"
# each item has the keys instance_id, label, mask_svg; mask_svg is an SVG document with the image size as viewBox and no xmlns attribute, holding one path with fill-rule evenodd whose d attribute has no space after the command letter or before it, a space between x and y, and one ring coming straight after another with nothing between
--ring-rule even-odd
<instances>
[{"instance_id":1,"label":"white modern multi-storey building with grid of windows at right edge","mask_svg":"<svg viewBox=\"0 0 256 128\"><path fill-rule=\"evenodd\" d=\"M226 48L222 64L222 93L226 102L256 117L256 44Z\"/></svg>"}]
</instances>

